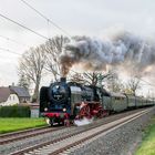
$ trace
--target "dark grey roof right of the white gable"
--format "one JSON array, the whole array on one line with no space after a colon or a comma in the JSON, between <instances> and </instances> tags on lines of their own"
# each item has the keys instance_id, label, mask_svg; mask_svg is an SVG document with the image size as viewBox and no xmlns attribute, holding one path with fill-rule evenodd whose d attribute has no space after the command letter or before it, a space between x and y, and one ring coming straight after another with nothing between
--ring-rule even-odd
<instances>
[{"instance_id":1,"label":"dark grey roof right of the white gable","mask_svg":"<svg viewBox=\"0 0 155 155\"><path fill-rule=\"evenodd\" d=\"M11 91L13 91L14 93L17 93L17 95L19 97L30 97L29 92L27 91L27 89L21 87L21 86L9 86Z\"/></svg>"}]
</instances>

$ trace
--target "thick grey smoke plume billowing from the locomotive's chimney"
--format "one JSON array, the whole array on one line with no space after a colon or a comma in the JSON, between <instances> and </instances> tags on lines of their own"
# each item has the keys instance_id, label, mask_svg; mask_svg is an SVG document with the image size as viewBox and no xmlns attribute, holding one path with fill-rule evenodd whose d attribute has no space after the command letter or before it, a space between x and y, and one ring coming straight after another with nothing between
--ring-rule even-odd
<instances>
[{"instance_id":1,"label":"thick grey smoke plume billowing from the locomotive's chimney","mask_svg":"<svg viewBox=\"0 0 155 155\"><path fill-rule=\"evenodd\" d=\"M62 74L65 76L74 64L92 71L105 70L106 65L135 64L144 71L155 64L155 46L128 32L120 33L111 40L83 38L69 43L60 55Z\"/></svg>"}]
</instances>

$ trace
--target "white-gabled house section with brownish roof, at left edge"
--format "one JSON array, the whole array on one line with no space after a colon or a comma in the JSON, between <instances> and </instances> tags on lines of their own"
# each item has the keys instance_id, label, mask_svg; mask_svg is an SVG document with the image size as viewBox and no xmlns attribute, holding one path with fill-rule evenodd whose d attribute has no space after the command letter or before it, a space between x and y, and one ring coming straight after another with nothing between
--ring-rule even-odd
<instances>
[{"instance_id":1,"label":"white-gabled house section with brownish roof, at left edge","mask_svg":"<svg viewBox=\"0 0 155 155\"><path fill-rule=\"evenodd\" d=\"M18 95L9 87L0 87L0 106L19 104Z\"/></svg>"}]
</instances>

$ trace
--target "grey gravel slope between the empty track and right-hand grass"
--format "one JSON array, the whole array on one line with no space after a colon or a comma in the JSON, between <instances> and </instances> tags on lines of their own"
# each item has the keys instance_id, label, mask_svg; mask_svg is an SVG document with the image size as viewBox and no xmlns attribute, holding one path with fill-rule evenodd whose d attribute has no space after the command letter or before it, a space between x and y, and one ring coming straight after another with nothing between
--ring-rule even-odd
<instances>
[{"instance_id":1,"label":"grey gravel slope between the empty track and right-hand grass","mask_svg":"<svg viewBox=\"0 0 155 155\"><path fill-rule=\"evenodd\" d=\"M133 155L141 142L142 130L154 114L155 107L135 121L65 153L70 155Z\"/></svg>"}]
</instances>

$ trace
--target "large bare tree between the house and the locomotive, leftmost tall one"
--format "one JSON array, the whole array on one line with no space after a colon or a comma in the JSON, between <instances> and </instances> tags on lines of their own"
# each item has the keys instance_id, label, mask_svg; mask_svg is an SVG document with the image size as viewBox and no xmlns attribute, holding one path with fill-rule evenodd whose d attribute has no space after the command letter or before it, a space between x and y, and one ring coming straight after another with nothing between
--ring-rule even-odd
<instances>
[{"instance_id":1,"label":"large bare tree between the house and the locomotive, leftmost tall one","mask_svg":"<svg viewBox=\"0 0 155 155\"><path fill-rule=\"evenodd\" d=\"M44 52L44 45L31 48L29 51L24 52L20 59L19 75L24 75L27 80L31 80L34 83L32 102L38 101L39 86L45 62L46 54Z\"/></svg>"}]
</instances>

